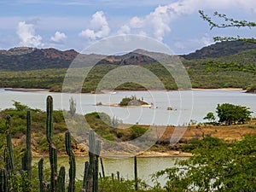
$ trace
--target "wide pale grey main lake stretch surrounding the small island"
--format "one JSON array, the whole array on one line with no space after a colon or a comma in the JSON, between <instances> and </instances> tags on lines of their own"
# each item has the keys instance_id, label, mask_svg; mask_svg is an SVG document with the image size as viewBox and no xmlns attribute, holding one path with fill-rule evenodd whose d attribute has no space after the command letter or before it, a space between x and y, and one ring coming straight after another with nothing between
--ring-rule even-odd
<instances>
[{"instance_id":1,"label":"wide pale grey main lake stretch surrounding the small island","mask_svg":"<svg viewBox=\"0 0 256 192\"><path fill-rule=\"evenodd\" d=\"M118 91L114 94L61 94L48 92L17 92L0 90L0 108L11 108L13 100L32 108L45 110L48 95L54 98L55 109L69 109L69 99L73 96L77 102L78 113L94 111L116 116L124 123L147 125L183 125L190 119L202 122L208 112L215 112L218 103L229 102L247 106L256 116L256 95L240 90L194 90L194 91ZM137 96L143 101L153 103L154 108L119 108L96 106L119 103L125 96ZM167 107L174 110L168 111Z\"/></svg>"}]
</instances>

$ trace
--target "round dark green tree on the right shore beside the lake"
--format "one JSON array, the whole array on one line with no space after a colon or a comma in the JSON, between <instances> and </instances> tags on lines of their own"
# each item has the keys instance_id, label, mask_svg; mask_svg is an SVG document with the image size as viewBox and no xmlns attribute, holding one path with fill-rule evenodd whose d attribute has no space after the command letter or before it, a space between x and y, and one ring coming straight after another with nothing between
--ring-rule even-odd
<instances>
[{"instance_id":1,"label":"round dark green tree on the right shore beside the lake","mask_svg":"<svg viewBox=\"0 0 256 192\"><path fill-rule=\"evenodd\" d=\"M244 124L251 118L251 111L249 108L230 103L218 104L217 106L218 122L227 125L231 124Z\"/></svg>"}]
</instances>

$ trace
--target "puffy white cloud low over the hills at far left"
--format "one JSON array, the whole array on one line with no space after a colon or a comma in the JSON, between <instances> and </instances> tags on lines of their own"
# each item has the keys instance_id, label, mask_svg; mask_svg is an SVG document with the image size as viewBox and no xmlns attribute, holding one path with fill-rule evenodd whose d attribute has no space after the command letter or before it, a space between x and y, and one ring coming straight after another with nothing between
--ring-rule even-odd
<instances>
[{"instance_id":1,"label":"puffy white cloud low over the hills at far left","mask_svg":"<svg viewBox=\"0 0 256 192\"><path fill-rule=\"evenodd\" d=\"M44 46L42 37L36 35L33 24L28 24L26 21L20 21L17 28L17 34L20 38L20 45L22 46Z\"/></svg>"}]
</instances>

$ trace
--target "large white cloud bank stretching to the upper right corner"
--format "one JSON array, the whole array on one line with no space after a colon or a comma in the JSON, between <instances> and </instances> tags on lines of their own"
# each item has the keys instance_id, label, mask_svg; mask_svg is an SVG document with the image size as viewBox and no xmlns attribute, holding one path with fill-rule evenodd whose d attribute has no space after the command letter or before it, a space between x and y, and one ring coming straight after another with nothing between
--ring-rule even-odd
<instances>
[{"instance_id":1,"label":"large white cloud bank stretching to the upper right corner","mask_svg":"<svg viewBox=\"0 0 256 192\"><path fill-rule=\"evenodd\" d=\"M191 15L199 9L218 11L224 9L248 9L252 12L252 6L256 6L254 0L178 0L163 6L158 6L153 12L143 17L132 17L119 28L118 33L146 32L149 36L163 41L166 35L172 32L172 21L182 18L183 15ZM199 17L199 15L198 15ZM183 24L181 24L183 25ZM185 24L184 24L185 25Z\"/></svg>"}]
</instances>

